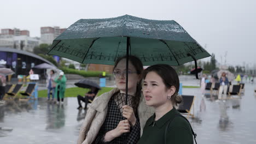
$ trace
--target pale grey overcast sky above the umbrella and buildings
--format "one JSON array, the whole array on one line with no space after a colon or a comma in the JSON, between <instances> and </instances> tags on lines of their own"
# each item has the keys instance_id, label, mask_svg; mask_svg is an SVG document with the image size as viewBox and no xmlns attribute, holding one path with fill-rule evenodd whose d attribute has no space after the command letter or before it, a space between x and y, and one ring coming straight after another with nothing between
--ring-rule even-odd
<instances>
[{"instance_id":1,"label":"pale grey overcast sky above the umbrella and buildings","mask_svg":"<svg viewBox=\"0 0 256 144\"><path fill-rule=\"evenodd\" d=\"M218 62L224 63L227 53L227 64L256 64L254 0L8 0L0 4L0 29L27 29L31 37L40 37L43 26L67 28L79 19L129 14L175 20L209 53L214 53Z\"/></svg>"}]
</instances>

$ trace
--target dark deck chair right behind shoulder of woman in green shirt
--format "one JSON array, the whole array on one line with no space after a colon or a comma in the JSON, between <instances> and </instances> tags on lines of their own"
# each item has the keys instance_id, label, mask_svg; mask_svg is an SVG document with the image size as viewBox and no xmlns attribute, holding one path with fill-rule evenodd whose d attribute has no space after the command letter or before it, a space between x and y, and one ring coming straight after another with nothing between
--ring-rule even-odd
<instances>
[{"instance_id":1,"label":"dark deck chair right behind shoulder of woman in green shirt","mask_svg":"<svg viewBox=\"0 0 256 144\"><path fill-rule=\"evenodd\" d=\"M194 95L182 95L182 103L178 107L178 111L184 115L192 116L194 118ZM191 113L193 107L193 113Z\"/></svg>"}]
</instances>

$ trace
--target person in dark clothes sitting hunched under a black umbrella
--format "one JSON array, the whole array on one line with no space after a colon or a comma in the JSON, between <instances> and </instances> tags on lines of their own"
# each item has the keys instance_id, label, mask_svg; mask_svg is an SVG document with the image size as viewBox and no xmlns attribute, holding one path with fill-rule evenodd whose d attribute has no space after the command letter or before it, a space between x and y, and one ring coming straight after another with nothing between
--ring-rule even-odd
<instances>
[{"instance_id":1,"label":"person in dark clothes sitting hunched under a black umbrella","mask_svg":"<svg viewBox=\"0 0 256 144\"><path fill-rule=\"evenodd\" d=\"M85 103L84 109L87 109L87 105L90 102L89 100L91 100L91 101L94 100L97 93L98 93L98 88L91 87L91 90L88 93L86 93L84 95L84 97L82 97L81 95L77 95L77 101L78 101L78 105L79 105L77 107L77 109L80 110L83 108L81 101L84 101L84 103Z\"/></svg>"}]
</instances>

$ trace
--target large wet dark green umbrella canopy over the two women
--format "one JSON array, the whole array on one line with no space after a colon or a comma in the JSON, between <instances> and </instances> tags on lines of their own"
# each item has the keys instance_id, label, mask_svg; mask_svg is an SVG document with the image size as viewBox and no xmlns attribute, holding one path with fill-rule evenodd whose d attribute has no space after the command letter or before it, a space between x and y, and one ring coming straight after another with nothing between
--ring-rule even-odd
<instances>
[{"instance_id":1,"label":"large wet dark green umbrella canopy over the two women","mask_svg":"<svg viewBox=\"0 0 256 144\"><path fill-rule=\"evenodd\" d=\"M53 41L48 52L79 63L109 65L126 53L137 56L143 65L181 65L211 56L176 21L130 15L78 20Z\"/></svg>"}]
</instances>

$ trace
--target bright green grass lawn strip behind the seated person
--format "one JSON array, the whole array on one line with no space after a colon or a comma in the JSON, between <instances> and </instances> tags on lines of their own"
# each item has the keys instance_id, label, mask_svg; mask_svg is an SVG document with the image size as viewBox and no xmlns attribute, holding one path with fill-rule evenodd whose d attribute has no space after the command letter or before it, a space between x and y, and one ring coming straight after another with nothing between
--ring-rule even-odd
<instances>
[{"instance_id":1,"label":"bright green grass lawn strip behind the seated person","mask_svg":"<svg viewBox=\"0 0 256 144\"><path fill-rule=\"evenodd\" d=\"M112 87L102 87L102 89L98 92L98 96L101 95L102 93L109 92ZM88 92L90 89L88 88L79 88L79 87L72 87L72 88L67 88L65 91L65 97L77 97L78 94L84 96L86 92ZM47 89L38 91L38 97L39 98L46 98L47 97Z\"/></svg>"}]
</instances>

